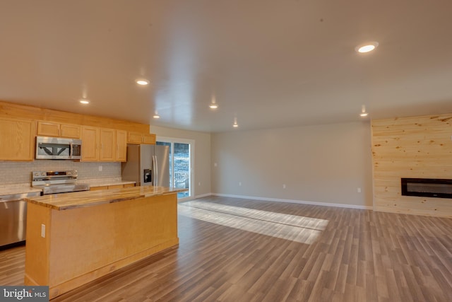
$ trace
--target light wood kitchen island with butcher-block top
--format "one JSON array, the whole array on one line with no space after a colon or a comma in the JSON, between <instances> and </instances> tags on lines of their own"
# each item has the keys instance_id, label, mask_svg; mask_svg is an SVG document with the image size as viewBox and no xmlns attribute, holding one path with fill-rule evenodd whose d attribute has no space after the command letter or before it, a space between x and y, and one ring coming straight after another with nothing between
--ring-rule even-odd
<instances>
[{"instance_id":1,"label":"light wood kitchen island with butcher-block top","mask_svg":"<svg viewBox=\"0 0 452 302\"><path fill-rule=\"evenodd\" d=\"M179 244L177 192L125 187L52 194L28 202L25 285L54 298Z\"/></svg>"}]
</instances>

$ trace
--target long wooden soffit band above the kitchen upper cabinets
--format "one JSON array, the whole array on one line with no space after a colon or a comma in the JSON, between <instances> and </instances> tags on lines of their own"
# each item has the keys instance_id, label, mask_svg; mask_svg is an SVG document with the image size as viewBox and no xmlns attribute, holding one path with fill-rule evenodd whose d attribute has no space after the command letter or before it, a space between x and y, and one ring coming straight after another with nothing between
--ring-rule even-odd
<instances>
[{"instance_id":1,"label":"long wooden soffit band above the kitchen upper cabinets","mask_svg":"<svg viewBox=\"0 0 452 302\"><path fill-rule=\"evenodd\" d=\"M126 120L116 120L109 117L81 115L78 113L37 108L0 101L0 116L25 118L30 120L44 120L66 124L81 124L91 127L126 130L131 132L150 133L148 124L140 124Z\"/></svg>"}]
</instances>

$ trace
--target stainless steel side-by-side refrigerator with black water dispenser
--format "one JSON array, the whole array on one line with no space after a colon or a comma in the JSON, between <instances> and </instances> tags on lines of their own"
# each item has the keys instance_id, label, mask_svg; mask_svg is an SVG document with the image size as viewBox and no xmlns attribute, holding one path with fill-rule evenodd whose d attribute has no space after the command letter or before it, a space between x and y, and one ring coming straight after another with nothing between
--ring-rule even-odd
<instances>
[{"instance_id":1,"label":"stainless steel side-by-side refrigerator with black water dispenser","mask_svg":"<svg viewBox=\"0 0 452 302\"><path fill-rule=\"evenodd\" d=\"M127 145L127 161L121 165L122 180L136 185L169 187L169 146Z\"/></svg>"}]
</instances>

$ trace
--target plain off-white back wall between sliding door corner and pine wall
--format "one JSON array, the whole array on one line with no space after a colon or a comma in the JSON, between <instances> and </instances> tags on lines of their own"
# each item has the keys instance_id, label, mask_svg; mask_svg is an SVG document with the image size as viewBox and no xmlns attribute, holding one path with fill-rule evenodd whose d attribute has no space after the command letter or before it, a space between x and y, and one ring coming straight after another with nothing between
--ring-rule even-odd
<instances>
[{"instance_id":1,"label":"plain off-white back wall between sliding door corner and pine wall","mask_svg":"<svg viewBox=\"0 0 452 302\"><path fill-rule=\"evenodd\" d=\"M371 207L371 167L368 122L212 134L216 194Z\"/></svg>"}]
</instances>

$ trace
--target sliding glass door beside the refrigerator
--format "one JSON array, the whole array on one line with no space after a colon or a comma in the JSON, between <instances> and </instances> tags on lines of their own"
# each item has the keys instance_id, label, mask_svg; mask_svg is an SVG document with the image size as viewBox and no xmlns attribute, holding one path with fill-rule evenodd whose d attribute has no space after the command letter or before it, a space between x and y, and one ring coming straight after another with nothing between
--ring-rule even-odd
<instances>
[{"instance_id":1,"label":"sliding glass door beside the refrigerator","mask_svg":"<svg viewBox=\"0 0 452 302\"><path fill-rule=\"evenodd\" d=\"M188 189L179 192L179 200L193 196L194 141L157 137L157 145L169 146L169 186Z\"/></svg>"}]
</instances>

